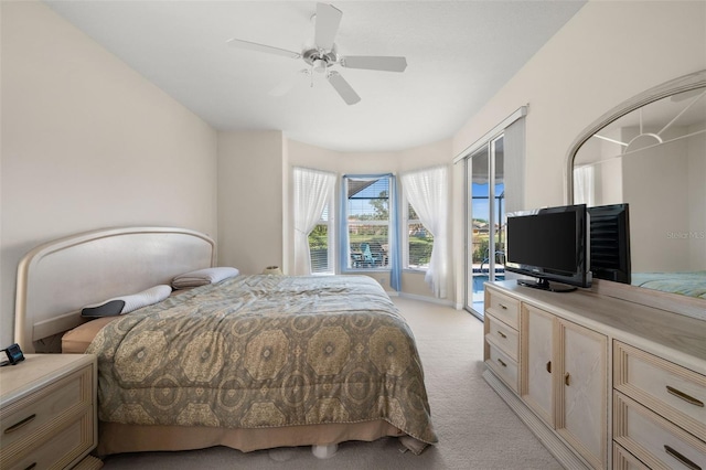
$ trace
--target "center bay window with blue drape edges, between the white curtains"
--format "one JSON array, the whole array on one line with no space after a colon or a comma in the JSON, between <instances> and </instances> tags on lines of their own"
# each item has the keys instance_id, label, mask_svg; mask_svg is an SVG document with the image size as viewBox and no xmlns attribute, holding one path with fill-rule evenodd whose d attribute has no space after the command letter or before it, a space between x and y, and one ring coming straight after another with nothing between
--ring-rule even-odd
<instances>
[{"instance_id":1,"label":"center bay window with blue drape edges, between the white curtains","mask_svg":"<svg viewBox=\"0 0 706 470\"><path fill-rule=\"evenodd\" d=\"M391 177L344 177L347 268L389 266Z\"/></svg>"}]
</instances>

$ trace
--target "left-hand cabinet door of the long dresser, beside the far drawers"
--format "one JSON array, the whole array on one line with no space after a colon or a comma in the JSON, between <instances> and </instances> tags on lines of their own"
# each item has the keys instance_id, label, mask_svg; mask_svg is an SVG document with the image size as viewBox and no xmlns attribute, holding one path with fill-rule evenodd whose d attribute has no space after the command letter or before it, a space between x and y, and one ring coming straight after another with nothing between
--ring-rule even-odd
<instances>
[{"instance_id":1,"label":"left-hand cabinet door of the long dresser, beside the far drawers","mask_svg":"<svg viewBox=\"0 0 706 470\"><path fill-rule=\"evenodd\" d=\"M554 316L522 307L521 395L537 416L554 427Z\"/></svg>"}]
</instances>

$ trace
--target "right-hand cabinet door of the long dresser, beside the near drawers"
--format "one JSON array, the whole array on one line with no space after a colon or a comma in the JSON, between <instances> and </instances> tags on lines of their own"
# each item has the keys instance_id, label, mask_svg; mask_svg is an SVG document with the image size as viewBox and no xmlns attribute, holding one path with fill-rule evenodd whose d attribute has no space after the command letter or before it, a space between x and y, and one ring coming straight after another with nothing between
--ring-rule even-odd
<instances>
[{"instance_id":1,"label":"right-hand cabinet door of the long dresser, beside the near drawers","mask_svg":"<svg viewBox=\"0 0 706 470\"><path fill-rule=\"evenodd\" d=\"M606 467L608 339L557 319L556 429L593 468Z\"/></svg>"}]
</instances>

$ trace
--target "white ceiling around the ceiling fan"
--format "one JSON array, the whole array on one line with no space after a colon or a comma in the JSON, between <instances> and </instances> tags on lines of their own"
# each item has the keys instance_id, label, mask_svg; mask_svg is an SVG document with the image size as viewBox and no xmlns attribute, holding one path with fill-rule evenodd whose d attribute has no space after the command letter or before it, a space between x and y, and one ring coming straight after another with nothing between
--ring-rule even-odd
<instances>
[{"instance_id":1,"label":"white ceiling around the ceiling fan","mask_svg":"<svg viewBox=\"0 0 706 470\"><path fill-rule=\"evenodd\" d=\"M347 106L302 60L313 1L47 0L66 20L218 130L278 129L339 151L394 151L451 137L584 1L336 1L339 54L402 55L404 73L335 68ZM284 96L270 92L293 81ZM292 83L292 82L290 82ZM520 104L518 104L520 105Z\"/></svg>"}]
</instances>

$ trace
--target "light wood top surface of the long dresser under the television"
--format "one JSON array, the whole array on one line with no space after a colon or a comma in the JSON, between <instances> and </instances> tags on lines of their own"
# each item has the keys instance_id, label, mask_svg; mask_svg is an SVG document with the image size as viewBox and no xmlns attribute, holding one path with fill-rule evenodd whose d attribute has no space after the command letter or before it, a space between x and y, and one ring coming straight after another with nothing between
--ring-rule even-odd
<instances>
[{"instance_id":1,"label":"light wood top surface of the long dresser under the television","mask_svg":"<svg viewBox=\"0 0 706 470\"><path fill-rule=\"evenodd\" d=\"M702 374L706 373L704 320L584 289L550 292L518 286L515 280L489 282L488 286L613 339L659 352L663 357Z\"/></svg>"}]
</instances>

